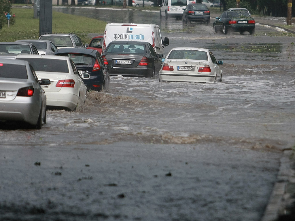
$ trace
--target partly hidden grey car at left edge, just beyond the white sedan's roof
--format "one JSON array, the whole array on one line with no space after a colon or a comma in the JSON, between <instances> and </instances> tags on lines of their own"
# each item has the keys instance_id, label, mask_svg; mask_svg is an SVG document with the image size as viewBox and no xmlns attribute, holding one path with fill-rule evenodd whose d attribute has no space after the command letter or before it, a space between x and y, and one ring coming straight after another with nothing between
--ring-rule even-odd
<instances>
[{"instance_id":1,"label":"partly hidden grey car at left edge, just beyond the white sedan's roof","mask_svg":"<svg viewBox=\"0 0 295 221\"><path fill-rule=\"evenodd\" d=\"M0 42L0 58L14 59L19 54L39 55L39 52L29 42Z\"/></svg>"}]
</instances>

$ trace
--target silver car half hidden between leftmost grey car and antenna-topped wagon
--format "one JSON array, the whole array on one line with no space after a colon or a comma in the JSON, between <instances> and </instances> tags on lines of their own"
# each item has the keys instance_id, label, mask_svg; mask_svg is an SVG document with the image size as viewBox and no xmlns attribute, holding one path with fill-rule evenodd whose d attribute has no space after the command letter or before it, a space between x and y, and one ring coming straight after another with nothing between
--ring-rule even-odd
<instances>
[{"instance_id":1,"label":"silver car half hidden between leftmost grey car and antenna-topped wagon","mask_svg":"<svg viewBox=\"0 0 295 221\"><path fill-rule=\"evenodd\" d=\"M39 55L53 55L57 50L57 47L53 42L48 40L37 40L37 39L22 39L15 42L29 42L35 45Z\"/></svg>"}]
</instances>

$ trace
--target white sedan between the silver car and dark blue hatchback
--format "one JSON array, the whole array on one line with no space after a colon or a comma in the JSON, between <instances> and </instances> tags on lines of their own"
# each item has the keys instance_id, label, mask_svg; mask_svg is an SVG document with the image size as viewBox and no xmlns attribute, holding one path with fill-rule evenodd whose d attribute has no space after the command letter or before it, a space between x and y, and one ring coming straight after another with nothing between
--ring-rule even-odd
<instances>
[{"instance_id":1,"label":"white sedan between the silver car and dark blue hatchback","mask_svg":"<svg viewBox=\"0 0 295 221\"><path fill-rule=\"evenodd\" d=\"M18 55L16 59L28 61L38 78L50 79L50 85L42 87L50 109L73 111L85 102L86 86L68 56ZM89 74L84 74L83 78L89 78Z\"/></svg>"}]
</instances>

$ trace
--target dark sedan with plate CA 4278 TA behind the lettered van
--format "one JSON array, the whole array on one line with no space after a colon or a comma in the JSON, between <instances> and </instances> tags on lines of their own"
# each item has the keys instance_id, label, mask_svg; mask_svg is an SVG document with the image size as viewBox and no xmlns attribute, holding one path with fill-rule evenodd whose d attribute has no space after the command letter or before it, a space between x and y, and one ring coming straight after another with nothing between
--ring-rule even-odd
<instances>
[{"instance_id":1,"label":"dark sedan with plate CA 4278 TA behind the lettered van","mask_svg":"<svg viewBox=\"0 0 295 221\"><path fill-rule=\"evenodd\" d=\"M132 77L154 77L161 68L161 57L150 43L135 41L111 42L102 54L104 65L114 66L110 75Z\"/></svg>"}]
</instances>

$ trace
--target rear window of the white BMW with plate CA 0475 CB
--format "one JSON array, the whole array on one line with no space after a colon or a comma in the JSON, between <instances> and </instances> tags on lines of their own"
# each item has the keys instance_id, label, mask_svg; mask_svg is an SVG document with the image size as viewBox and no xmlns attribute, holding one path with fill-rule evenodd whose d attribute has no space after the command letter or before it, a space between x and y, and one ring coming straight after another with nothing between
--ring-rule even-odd
<instances>
[{"instance_id":1,"label":"rear window of the white BMW with plate CA 0475 CB","mask_svg":"<svg viewBox=\"0 0 295 221\"><path fill-rule=\"evenodd\" d=\"M208 60L207 52L197 50L173 50L168 59Z\"/></svg>"}]
</instances>

